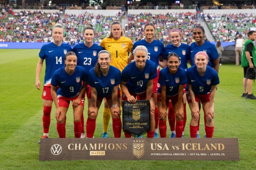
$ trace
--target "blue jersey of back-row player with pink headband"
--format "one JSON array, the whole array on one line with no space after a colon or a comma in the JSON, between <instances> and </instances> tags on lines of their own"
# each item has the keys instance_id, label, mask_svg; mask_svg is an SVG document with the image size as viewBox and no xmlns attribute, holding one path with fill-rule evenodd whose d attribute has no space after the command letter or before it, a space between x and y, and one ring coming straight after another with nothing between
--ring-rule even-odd
<instances>
[{"instance_id":1,"label":"blue jersey of back-row player with pink headband","mask_svg":"<svg viewBox=\"0 0 256 170\"><path fill-rule=\"evenodd\" d=\"M187 70L187 61L191 60L190 58L190 46L184 43L181 43L180 47L175 47L173 44L165 46L163 52L163 58L167 60L167 56L170 53L176 53L180 57L180 67Z\"/></svg>"}]
</instances>

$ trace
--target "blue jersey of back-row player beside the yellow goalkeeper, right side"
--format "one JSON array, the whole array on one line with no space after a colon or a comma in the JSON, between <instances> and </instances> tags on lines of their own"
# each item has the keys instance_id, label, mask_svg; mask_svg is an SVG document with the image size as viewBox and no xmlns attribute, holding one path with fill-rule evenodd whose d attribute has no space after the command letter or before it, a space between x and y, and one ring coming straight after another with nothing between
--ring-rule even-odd
<instances>
[{"instance_id":1,"label":"blue jersey of back-row player beside the yellow goalkeeper, right side","mask_svg":"<svg viewBox=\"0 0 256 170\"><path fill-rule=\"evenodd\" d=\"M147 48L147 58L154 62L157 67L159 66L159 55L163 55L163 44L160 41L155 39L152 43L148 43L145 39L136 41L132 47L132 53L137 46L145 46Z\"/></svg>"}]
</instances>

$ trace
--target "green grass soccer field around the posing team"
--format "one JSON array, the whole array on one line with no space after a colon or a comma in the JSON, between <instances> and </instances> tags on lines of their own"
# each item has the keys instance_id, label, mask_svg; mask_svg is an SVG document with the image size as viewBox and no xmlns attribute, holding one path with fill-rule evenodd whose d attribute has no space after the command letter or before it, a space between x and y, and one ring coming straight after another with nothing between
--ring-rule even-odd
<instances>
[{"instance_id":1,"label":"green grass soccer field around the posing team","mask_svg":"<svg viewBox=\"0 0 256 170\"><path fill-rule=\"evenodd\" d=\"M43 133L42 90L35 88L35 67L39 49L0 50L0 169L254 169L256 166L256 113L244 106L243 69L234 64L220 66L220 84L215 97L215 138L238 138L240 161L45 161L39 162L38 141ZM41 73L43 84L44 68ZM256 84L253 84L256 93ZM256 101L246 100L246 107L256 111ZM67 114L66 136L74 137L73 116ZM85 113L87 108L85 107ZM55 107L52 109L50 137L57 138ZM99 113L102 113L102 108ZM187 108L185 137L189 137L190 111ZM100 114L101 115L101 114ZM95 137L102 133L98 117ZM85 116L85 120L87 117ZM168 125L169 126L169 125ZM109 136L113 137L112 124ZM168 128L168 135L170 130ZM204 135L201 119L200 135ZM124 137L124 134L122 133ZM144 135L145 136L145 135Z\"/></svg>"}]
</instances>

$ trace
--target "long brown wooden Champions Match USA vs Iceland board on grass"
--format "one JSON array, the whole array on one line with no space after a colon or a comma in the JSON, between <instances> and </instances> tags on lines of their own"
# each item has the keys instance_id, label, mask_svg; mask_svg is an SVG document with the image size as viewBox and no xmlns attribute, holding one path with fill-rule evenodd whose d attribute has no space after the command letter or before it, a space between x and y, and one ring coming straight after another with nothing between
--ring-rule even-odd
<instances>
[{"instance_id":1,"label":"long brown wooden Champions Match USA vs Iceland board on grass","mask_svg":"<svg viewBox=\"0 0 256 170\"><path fill-rule=\"evenodd\" d=\"M237 138L45 138L39 160L240 160Z\"/></svg>"}]
</instances>

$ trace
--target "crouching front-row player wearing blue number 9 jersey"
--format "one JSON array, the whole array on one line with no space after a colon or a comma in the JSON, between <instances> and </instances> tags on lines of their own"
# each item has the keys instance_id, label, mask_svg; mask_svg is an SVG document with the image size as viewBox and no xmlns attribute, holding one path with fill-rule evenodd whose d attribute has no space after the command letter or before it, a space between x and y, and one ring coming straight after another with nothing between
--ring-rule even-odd
<instances>
[{"instance_id":1,"label":"crouching front-row player wearing blue number 9 jersey","mask_svg":"<svg viewBox=\"0 0 256 170\"><path fill-rule=\"evenodd\" d=\"M77 57L73 51L65 55L65 67L61 67L53 74L51 94L56 107L55 118L59 138L66 138L65 117L69 103L72 101L74 114L75 138L82 133L81 115L84 110L84 92L87 87L88 73L77 66ZM57 86L59 89L57 90Z\"/></svg>"}]
</instances>

